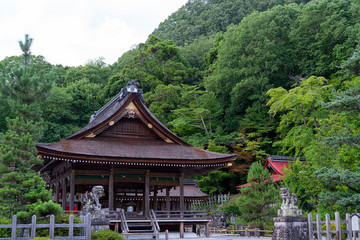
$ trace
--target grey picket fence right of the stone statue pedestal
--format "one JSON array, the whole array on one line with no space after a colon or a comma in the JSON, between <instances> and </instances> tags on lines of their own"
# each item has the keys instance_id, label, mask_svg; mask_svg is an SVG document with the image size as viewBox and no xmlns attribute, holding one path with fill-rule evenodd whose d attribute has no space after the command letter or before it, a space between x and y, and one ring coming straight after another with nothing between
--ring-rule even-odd
<instances>
[{"instance_id":1,"label":"grey picket fence right of the stone statue pedestal","mask_svg":"<svg viewBox=\"0 0 360 240\"><path fill-rule=\"evenodd\" d=\"M357 240L360 239L360 221L357 221L357 225L352 229L352 217L360 217L358 214L350 215L346 214L346 219L341 220L340 214L335 213L335 220L330 220L330 214L325 215L325 221L321 221L320 214L316 215L316 220L312 218L312 214L308 215L308 227L309 227L309 239L310 240ZM331 228L333 226L333 228ZM344 229L341 229L343 226ZM346 226L346 227L345 227ZM344 237L346 236L346 237Z\"/></svg>"}]
</instances>

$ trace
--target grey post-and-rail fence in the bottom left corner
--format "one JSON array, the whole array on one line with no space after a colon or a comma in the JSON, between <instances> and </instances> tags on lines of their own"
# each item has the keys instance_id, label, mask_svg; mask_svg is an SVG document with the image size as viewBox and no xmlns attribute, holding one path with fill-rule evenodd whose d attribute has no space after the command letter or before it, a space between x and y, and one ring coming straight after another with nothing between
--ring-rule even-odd
<instances>
[{"instance_id":1,"label":"grey post-and-rail fence in the bottom left corner","mask_svg":"<svg viewBox=\"0 0 360 240\"><path fill-rule=\"evenodd\" d=\"M37 228L49 228L49 238L54 240L88 240L91 239L91 216L88 214L87 216L84 216L81 218L82 223L74 223L74 216L69 216L69 223L68 224L56 224L55 223L55 216L50 216L50 224L37 224L36 223L36 216L32 216L31 223L30 224L19 224L17 223L16 216L12 217L12 223L11 224L1 224L0 229L9 228L11 229L11 237L10 238L0 238L0 239L33 239L36 236L36 229ZM69 235L68 236L55 236L55 228L69 228ZM74 236L74 228L80 228L82 231L82 236ZM19 231L21 229L29 229L30 230L30 236L22 237L17 236L19 234Z\"/></svg>"}]
</instances>

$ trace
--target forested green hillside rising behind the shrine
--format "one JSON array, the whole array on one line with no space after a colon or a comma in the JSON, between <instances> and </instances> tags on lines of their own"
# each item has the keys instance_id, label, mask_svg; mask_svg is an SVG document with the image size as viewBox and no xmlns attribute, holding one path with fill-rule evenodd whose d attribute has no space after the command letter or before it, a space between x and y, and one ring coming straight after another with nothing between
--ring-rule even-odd
<instances>
[{"instance_id":1,"label":"forested green hillside rising behind the shrine","mask_svg":"<svg viewBox=\"0 0 360 240\"><path fill-rule=\"evenodd\" d=\"M30 81L51 85L33 105L41 110L40 141L69 136L136 80L149 109L177 135L238 154L233 167L199 177L204 191L236 192L251 163L268 154L301 156L308 165L292 166L284 183L302 196L304 209L355 207L359 12L357 0L189 0L112 65L99 58L54 66L31 55ZM18 56L0 62L2 132L5 118L18 115L12 89L32 97L29 82L10 74L17 65ZM351 182L341 177L350 174Z\"/></svg>"}]
</instances>

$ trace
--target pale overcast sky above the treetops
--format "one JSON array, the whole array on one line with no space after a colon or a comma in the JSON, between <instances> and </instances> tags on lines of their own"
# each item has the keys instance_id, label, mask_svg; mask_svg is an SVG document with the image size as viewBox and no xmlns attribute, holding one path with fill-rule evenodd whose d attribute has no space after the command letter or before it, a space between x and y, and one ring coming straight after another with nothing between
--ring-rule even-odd
<instances>
[{"instance_id":1,"label":"pale overcast sky above the treetops","mask_svg":"<svg viewBox=\"0 0 360 240\"><path fill-rule=\"evenodd\" d=\"M52 64L114 63L188 0L1 0L0 60L20 55L25 33L31 52Z\"/></svg>"}]
</instances>

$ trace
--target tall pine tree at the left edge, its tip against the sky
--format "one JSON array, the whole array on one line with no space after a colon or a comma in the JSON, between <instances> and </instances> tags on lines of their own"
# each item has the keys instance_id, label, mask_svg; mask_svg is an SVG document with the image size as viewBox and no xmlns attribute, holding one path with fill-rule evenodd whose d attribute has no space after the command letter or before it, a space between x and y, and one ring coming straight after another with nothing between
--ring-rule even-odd
<instances>
[{"instance_id":1,"label":"tall pine tree at the left edge, its tip against the sky","mask_svg":"<svg viewBox=\"0 0 360 240\"><path fill-rule=\"evenodd\" d=\"M35 149L43 130L38 103L48 94L51 83L30 64L31 42L28 35L20 42L24 64L8 66L8 71L0 73L2 94L17 114L17 118L7 119L8 130L0 135L0 215L16 214L20 220L61 211L52 202L45 181L32 170L42 164Z\"/></svg>"}]
</instances>

